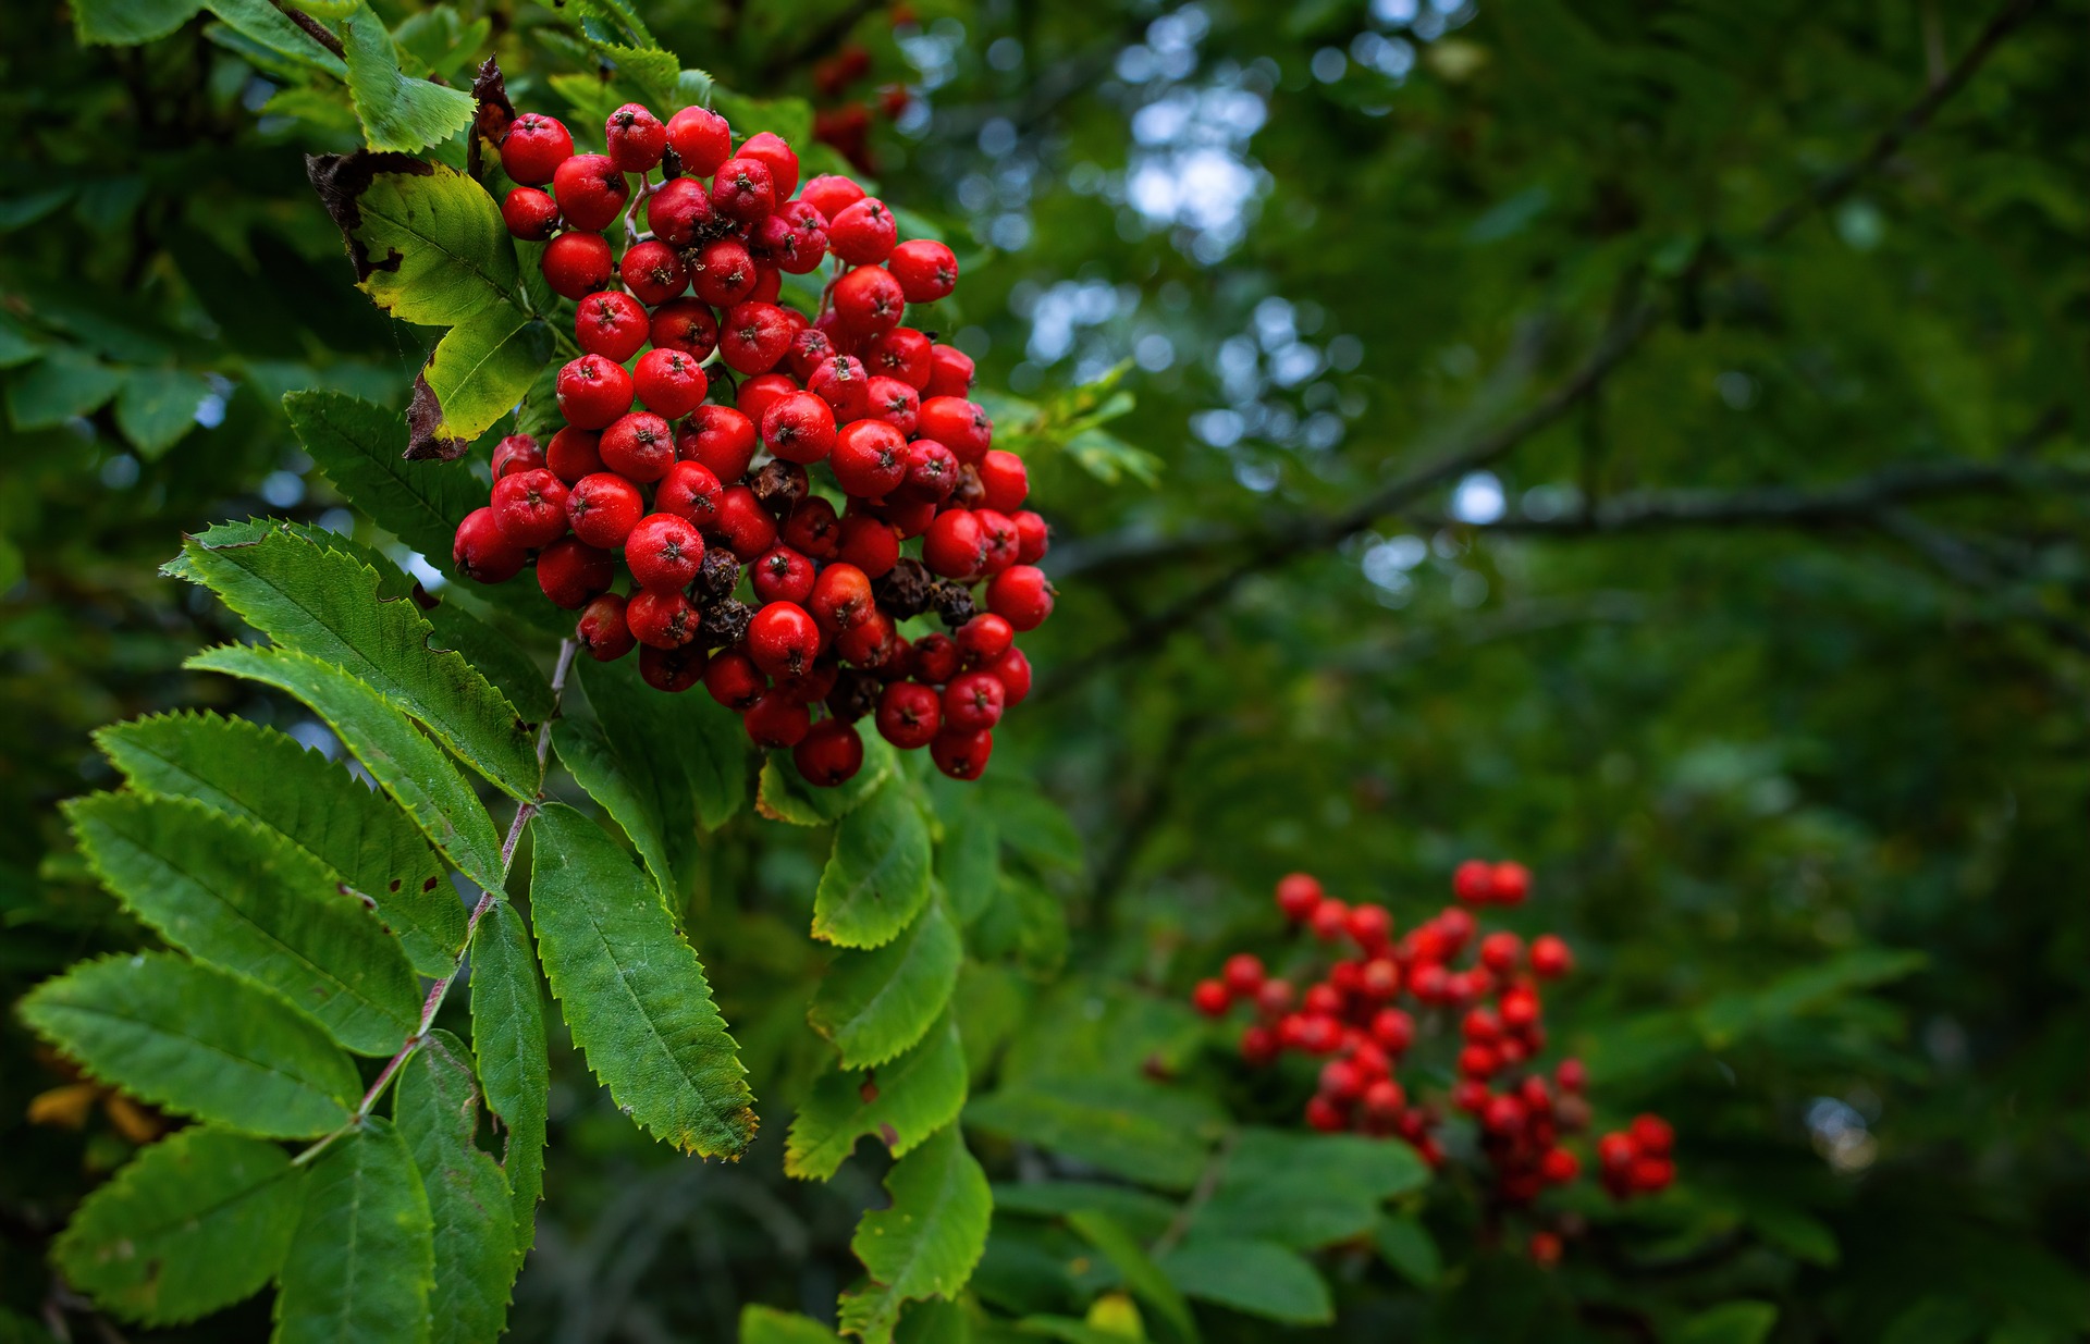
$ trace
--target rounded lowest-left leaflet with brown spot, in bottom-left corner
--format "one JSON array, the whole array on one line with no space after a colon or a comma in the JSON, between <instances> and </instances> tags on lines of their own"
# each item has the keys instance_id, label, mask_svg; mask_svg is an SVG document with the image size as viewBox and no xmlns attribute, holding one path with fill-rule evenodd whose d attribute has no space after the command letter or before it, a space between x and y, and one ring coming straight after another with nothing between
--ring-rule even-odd
<instances>
[{"instance_id":1,"label":"rounded lowest-left leaflet with brown spot, in bottom-left corner","mask_svg":"<svg viewBox=\"0 0 2090 1344\"><path fill-rule=\"evenodd\" d=\"M73 1288L125 1321L194 1321L276 1277L301 1175L276 1143L182 1129L90 1194L52 1256Z\"/></svg>"}]
</instances>

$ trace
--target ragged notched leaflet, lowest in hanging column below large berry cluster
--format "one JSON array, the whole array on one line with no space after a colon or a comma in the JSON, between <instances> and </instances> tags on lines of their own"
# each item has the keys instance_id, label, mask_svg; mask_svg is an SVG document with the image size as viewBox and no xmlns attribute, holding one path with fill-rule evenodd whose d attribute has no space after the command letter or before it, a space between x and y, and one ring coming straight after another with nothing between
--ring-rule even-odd
<instances>
[{"instance_id":1,"label":"ragged notched leaflet, lowest in hanging column below large berry cluster","mask_svg":"<svg viewBox=\"0 0 2090 1344\"><path fill-rule=\"evenodd\" d=\"M901 1306L955 1298L986 1250L995 1202L986 1175L955 1125L901 1158L886 1175L892 1208L863 1214L849 1248L869 1283L842 1294L842 1334L886 1344Z\"/></svg>"}]
</instances>

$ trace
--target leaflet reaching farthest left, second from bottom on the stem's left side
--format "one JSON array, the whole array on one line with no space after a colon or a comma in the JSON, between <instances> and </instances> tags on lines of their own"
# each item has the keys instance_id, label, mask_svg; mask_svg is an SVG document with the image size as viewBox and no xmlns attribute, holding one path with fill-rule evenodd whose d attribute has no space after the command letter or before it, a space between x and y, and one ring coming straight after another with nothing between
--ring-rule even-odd
<instances>
[{"instance_id":1,"label":"leaflet reaching farthest left, second from bottom on the stem's left side","mask_svg":"<svg viewBox=\"0 0 2090 1344\"><path fill-rule=\"evenodd\" d=\"M173 953L82 961L29 991L21 1016L102 1083L268 1139L328 1133L362 1093L318 1022Z\"/></svg>"}]
</instances>

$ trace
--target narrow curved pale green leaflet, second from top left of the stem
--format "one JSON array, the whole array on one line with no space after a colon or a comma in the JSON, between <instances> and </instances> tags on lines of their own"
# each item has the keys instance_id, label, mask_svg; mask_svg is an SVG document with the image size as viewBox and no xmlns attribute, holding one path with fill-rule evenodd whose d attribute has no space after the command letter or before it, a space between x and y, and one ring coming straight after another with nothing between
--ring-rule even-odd
<instances>
[{"instance_id":1,"label":"narrow curved pale green leaflet, second from top left of the stem","mask_svg":"<svg viewBox=\"0 0 2090 1344\"><path fill-rule=\"evenodd\" d=\"M288 648L226 644L182 667L274 686L303 700L466 878L502 884L502 842L449 759L405 715L347 673Z\"/></svg>"}]
</instances>

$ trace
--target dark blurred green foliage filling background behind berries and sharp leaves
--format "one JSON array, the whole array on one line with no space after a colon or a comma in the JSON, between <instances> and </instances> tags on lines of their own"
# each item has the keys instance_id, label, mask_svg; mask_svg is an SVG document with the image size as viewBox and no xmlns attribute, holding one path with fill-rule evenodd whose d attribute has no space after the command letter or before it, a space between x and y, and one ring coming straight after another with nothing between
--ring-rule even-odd
<instances>
[{"instance_id":1,"label":"dark blurred green foliage filling background behind berries and sharp leaves","mask_svg":"<svg viewBox=\"0 0 2090 1344\"><path fill-rule=\"evenodd\" d=\"M117 8L165 36L0 10L8 1001L142 941L56 815L113 784L90 729L190 704L311 727L182 671L240 625L157 566L259 512L405 558L280 399L399 408L439 334L351 286L301 155L359 125L316 59L251 15ZM491 48L518 107L600 117L617 52L552 8L374 8L418 73ZM1024 435L1060 537L1041 690L984 786L936 790L947 836L993 836L940 876L978 901L957 1020L995 1231L974 1315L903 1336L1195 1313L1231 1340L1329 1308L1344 1338L2090 1331L2090 8L897 8L642 6L736 119L867 102L884 190L959 247L949 334L1001 424L1064 426ZM838 86L851 44L869 67ZM782 1175L828 1049L823 834L744 813L696 863L686 924L765 1120L744 1162L646 1143L556 1051L516 1338L832 1319L884 1160ZM1469 1181L1208 1158L1277 1143L1310 1087L1181 1007L1227 951L1287 957L1271 882L1413 920L1476 853L1528 861L1513 922L1576 945L1555 1037L1599 1122L1680 1133L1678 1189L1576 1206L1557 1271ZM0 1041L0 1331L96 1338L42 1256L138 1133L115 1104L31 1125L69 1076L13 1018ZM1275 1189L1200 1202L1208 1171ZM1306 1219L1338 1235L1227 1227L1281 1260L1183 1260L1210 1204L1317 1185L1379 1196ZM1262 1315L1214 1304L1244 1294ZM251 1304L186 1338L265 1329Z\"/></svg>"}]
</instances>

